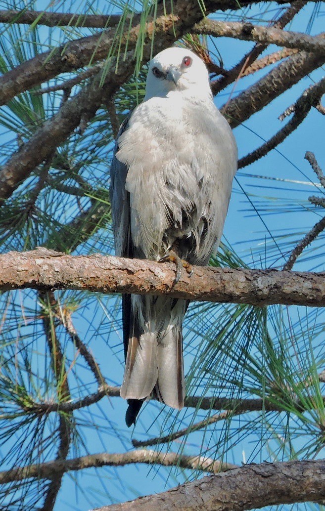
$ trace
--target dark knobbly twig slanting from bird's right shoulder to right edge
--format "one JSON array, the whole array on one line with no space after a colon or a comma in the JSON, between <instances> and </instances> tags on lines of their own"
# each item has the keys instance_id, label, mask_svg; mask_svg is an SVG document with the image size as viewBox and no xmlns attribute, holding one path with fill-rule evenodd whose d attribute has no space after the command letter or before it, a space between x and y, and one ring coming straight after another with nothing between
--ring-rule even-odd
<instances>
[{"instance_id":1,"label":"dark knobbly twig slanting from bird's right shoulder to right edge","mask_svg":"<svg viewBox=\"0 0 325 511\"><path fill-rule=\"evenodd\" d=\"M325 78L322 78L318 83L306 89L296 103L290 107L290 111L294 112L293 118L265 144L241 158L238 161L238 168L242 169L243 167L250 165L253 161L257 161L259 158L262 158L262 156L265 156L268 152L281 144L281 142L283 142L285 138L290 135L290 133L292 133L302 123L302 121L304 121L310 109L317 105L319 98L321 98L324 92ZM286 111L288 110L289 109Z\"/></svg>"}]
</instances>

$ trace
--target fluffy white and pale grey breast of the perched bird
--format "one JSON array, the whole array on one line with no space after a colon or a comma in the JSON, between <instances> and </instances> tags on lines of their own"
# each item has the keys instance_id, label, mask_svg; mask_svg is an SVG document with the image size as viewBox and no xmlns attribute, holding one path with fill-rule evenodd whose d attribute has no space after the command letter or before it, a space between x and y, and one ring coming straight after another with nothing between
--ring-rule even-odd
<instances>
[{"instance_id":1,"label":"fluffy white and pale grey breast of the perched bird","mask_svg":"<svg viewBox=\"0 0 325 511\"><path fill-rule=\"evenodd\" d=\"M135 109L118 144L116 157L128 166L135 246L158 258L170 216L181 224L183 212L195 206L198 222L208 219L211 233L202 249L209 257L220 241L237 161L230 127L212 101L176 93L151 98ZM200 236L199 224L197 231Z\"/></svg>"}]
</instances>

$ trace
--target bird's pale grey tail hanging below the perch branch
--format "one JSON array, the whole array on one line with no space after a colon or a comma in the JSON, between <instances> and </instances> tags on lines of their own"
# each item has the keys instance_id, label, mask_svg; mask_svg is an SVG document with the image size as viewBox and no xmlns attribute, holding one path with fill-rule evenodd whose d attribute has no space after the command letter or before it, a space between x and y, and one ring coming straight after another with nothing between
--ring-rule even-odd
<instances>
[{"instance_id":1,"label":"bird's pale grey tail hanging below the perch branch","mask_svg":"<svg viewBox=\"0 0 325 511\"><path fill-rule=\"evenodd\" d=\"M180 410L185 397L182 321L186 301L134 295L131 301L121 397L138 412L141 405L133 400L145 400L155 391L159 401Z\"/></svg>"}]
</instances>

